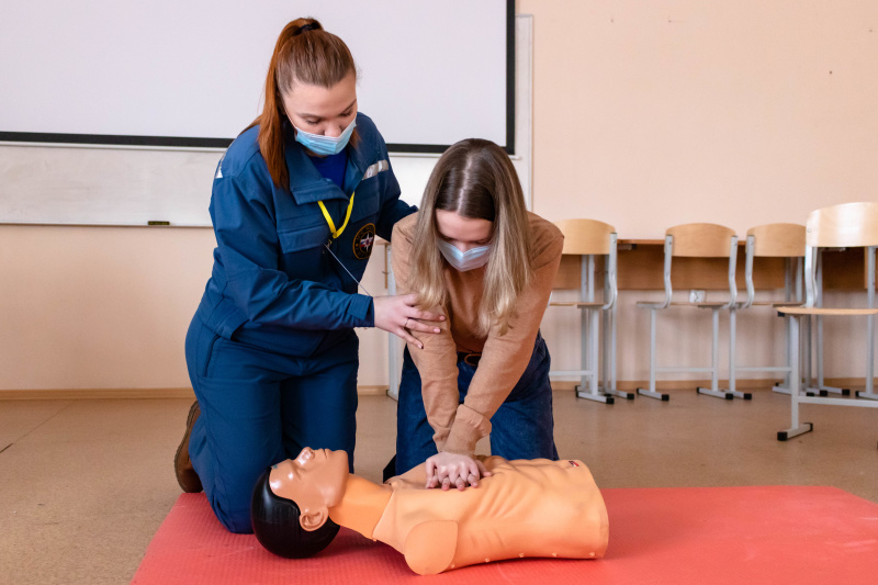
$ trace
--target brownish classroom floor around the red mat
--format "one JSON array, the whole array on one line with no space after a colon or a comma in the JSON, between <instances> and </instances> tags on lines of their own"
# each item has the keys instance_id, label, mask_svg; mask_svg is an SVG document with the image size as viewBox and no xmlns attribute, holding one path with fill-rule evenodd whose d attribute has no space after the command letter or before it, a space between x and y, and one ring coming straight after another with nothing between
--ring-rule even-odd
<instances>
[{"instance_id":1,"label":"brownish classroom floor around the red mat","mask_svg":"<svg viewBox=\"0 0 878 585\"><path fill-rule=\"evenodd\" d=\"M814 432L781 443L789 398L768 391L612 406L554 396L561 457L585 461L601 487L832 485L878 503L875 409L806 405ZM361 397L356 460L368 479L392 454L395 404ZM128 583L179 495L171 460L189 406L0 402L0 584Z\"/></svg>"}]
</instances>

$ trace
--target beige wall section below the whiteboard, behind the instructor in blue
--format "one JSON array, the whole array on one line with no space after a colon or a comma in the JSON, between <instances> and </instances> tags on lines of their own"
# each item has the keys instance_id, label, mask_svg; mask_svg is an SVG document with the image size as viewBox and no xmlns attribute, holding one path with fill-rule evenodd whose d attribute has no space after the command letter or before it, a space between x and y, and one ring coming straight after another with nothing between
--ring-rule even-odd
<instances>
[{"instance_id":1,"label":"beige wall section below the whiteboard, behind the instructor in blue","mask_svg":"<svg viewBox=\"0 0 878 585\"><path fill-rule=\"evenodd\" d=\"M183 340L215 245L210 228L0 226L0 390L189 386ZM374 250L363 284L381 291ZM358 333L360 382L386 383L369 368L386 334Z\"/></svg>"}]
</instances>

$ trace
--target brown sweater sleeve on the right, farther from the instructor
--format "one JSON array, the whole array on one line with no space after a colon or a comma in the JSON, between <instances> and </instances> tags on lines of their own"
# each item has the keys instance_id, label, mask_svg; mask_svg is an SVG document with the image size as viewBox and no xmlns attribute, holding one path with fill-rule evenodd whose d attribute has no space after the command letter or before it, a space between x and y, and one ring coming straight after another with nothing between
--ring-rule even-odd
<instances>
[{"instance_id":1,"label":"brown sweater sleeve on the right, farther from the instructor","mask_svg":"<svg viewBox=\"0 0 878 585\"><path fill-rule=\"evenodd\" d=\"M499 335L496 325L488 331L466 398L457 409L441 450L472 457L479 439L491 432L491 417L530 363L537 331L561 265L563 246L564 237L559 234L538 252L533 280L519 294L509 328L504 335Z\"/></svg>"}]
</instances>

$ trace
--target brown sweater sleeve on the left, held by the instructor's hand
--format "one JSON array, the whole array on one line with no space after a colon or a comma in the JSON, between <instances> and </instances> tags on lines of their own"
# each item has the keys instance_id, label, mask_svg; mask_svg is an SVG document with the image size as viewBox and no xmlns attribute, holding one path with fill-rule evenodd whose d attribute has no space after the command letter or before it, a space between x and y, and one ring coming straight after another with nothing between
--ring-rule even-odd
<instances>
[{"instance_id":1,"label":"brown sweater sleeve on the left, held by the instructor's hand","mask_svg":"<svg viewBox=\"0 0 878 585\"><path fill-rule=\"evenodd\" d=\"M415 217L407 217L397 223L393 229L391 254L393 257L393 275L396 279L398 294L413 292L409 281L409 260L412 252L412 237L408 229ZM446 316L446 320L436 324L438 334L412 335L424 344L424 349L408 344L408 352L420 374L420 392L424 398L424 408L427 412L427 421L434 429L434 441L442 450L454 415L460 403L458 392L458 350L451 337L450 318L446 307L419 307Z\"/></svg>"}]
</instances>

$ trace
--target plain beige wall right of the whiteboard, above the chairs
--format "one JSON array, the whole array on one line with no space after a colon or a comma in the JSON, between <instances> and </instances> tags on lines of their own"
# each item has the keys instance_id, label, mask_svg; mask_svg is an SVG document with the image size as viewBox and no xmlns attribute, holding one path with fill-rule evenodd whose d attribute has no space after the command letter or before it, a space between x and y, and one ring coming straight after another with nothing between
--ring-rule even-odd
<instances>
[{"instance_id":1,"label":"plain beige wall right of the whiteboard, above the chairs","mask_svg":"<svg viewBox=\"0 0 878 585\"><path fill-rule=\"evenodd\" d=\"M519 0L534 209L620 238L874 200L878 3Z\"/></svg>"}]
</instances>

